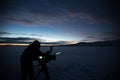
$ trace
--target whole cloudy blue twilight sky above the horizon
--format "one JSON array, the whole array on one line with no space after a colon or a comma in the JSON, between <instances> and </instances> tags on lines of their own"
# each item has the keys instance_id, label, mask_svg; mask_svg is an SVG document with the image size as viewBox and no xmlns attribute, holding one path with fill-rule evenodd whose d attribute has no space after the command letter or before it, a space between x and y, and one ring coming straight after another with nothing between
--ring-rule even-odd
<instances>
[{"instance_id":1,"label":"whole cloudy blue twilight sky above the horizon","mask_svg":"<svg viewBox=\"0 0 120 80\"><path fill-rule=\"evenodd\" d=\"M0 43L120 39L117 0L3 0L0 10Z\"/></svg>"}]
</instances>

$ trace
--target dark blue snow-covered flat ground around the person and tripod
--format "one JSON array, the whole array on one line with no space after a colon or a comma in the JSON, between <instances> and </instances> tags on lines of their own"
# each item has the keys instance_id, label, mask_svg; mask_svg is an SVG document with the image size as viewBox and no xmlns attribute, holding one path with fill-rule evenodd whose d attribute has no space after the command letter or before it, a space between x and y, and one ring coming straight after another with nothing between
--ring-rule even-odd
<instances>
[{"instance_id":1,"label":"dark blue snow-covered flat ground around the person and tripod","mask_svg":"<svg viewBox=\"0 0 120 80\"><path fill-rule=\"evenodd\" d=\"M19 59L24 49L0 47L0 80L20 80ZM41 48L43 52L48 49ZM48 63L51 80L120 80L119 47L54 47L56 52L62 53Z\"/></svg>"}]
</instances>

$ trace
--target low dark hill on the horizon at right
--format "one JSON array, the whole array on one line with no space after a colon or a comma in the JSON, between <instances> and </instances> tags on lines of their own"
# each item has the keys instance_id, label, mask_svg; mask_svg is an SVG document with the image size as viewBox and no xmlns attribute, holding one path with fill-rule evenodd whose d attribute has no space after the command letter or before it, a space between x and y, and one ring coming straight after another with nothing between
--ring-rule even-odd
<instances>
[{"instance_id":1,"label":"low dark hill on the horizon at right","mask_svg":"<svg viewBox=\"0 0 120 80\"><path fill-rule=\"evenodd\" d=\"M68 46L120 46L120 39L98 42L80 42Z\"/></svg>"}]
</instances>

